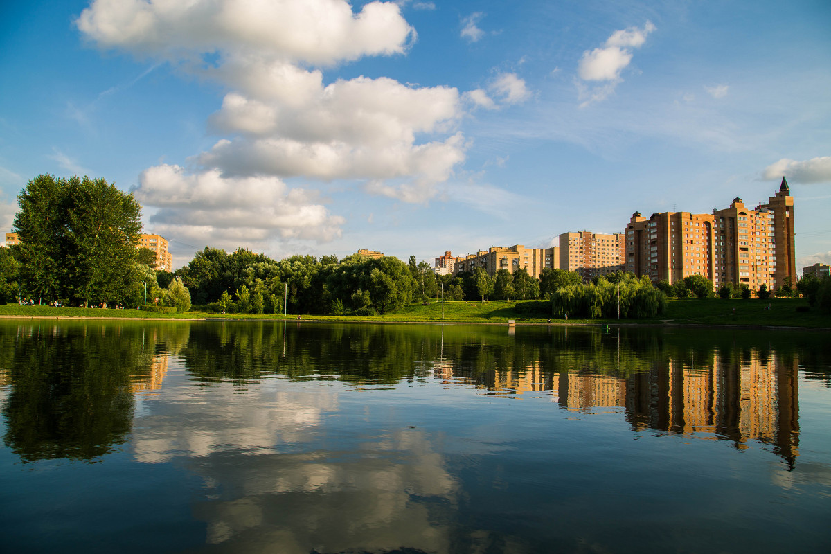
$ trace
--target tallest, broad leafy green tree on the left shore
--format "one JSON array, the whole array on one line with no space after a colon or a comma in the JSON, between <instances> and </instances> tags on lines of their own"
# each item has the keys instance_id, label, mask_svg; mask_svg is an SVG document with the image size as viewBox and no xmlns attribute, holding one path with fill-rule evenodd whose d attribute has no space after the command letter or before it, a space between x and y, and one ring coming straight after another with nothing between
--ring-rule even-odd
<instances>
[{"instance_id":1,"label":"tallest, broad leafy green tree on the left shore","mask_svg":"<svg viewBox=\"0 0 831 554\"><path fill-rule=\"evenodd\" d=\"M28 292L82 306L133 293L141 208L105 179L40 175L17 197Z\"/></svg>"}]
</instances>

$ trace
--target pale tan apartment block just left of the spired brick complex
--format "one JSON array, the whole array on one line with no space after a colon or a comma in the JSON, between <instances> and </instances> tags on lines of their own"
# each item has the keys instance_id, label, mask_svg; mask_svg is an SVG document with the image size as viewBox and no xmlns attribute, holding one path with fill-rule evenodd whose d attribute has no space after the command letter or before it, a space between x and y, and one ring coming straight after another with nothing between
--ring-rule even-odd
<instances>
[{"instance_id":1,"label":"pale tan apartment block just left of the spired brick complex","mask_svg":"<svg viewBox=\"0 0 831 554\"><path fill-rule=\"evenodd\" d=\"M625 259L622 233L579 231L560 235L560 269L577 272L583 279L622 271Z\"/></svg>"}]
</instances>

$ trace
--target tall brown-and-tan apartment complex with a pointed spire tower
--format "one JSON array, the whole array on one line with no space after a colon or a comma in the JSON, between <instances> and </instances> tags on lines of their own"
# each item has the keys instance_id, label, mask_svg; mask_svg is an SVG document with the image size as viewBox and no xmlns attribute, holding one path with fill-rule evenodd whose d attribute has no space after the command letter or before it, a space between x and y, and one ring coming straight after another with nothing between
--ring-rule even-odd
<instances>
[{"instance_id":1,"label":"tall brown-and-tan apartment complex with a pointed spire tower","mask_svg":"<svg viewBox=\"0 0 831 554\"><path fill-rule=\"evenodd\" d=\"M733 282L757 290L796 282L794 199L787 181L768 203L748 208L740 198L713 213L632 214L626 230L626 269L652 282L689 275L715 287Z\"/></svg>"}]
</instances>

